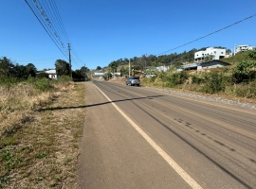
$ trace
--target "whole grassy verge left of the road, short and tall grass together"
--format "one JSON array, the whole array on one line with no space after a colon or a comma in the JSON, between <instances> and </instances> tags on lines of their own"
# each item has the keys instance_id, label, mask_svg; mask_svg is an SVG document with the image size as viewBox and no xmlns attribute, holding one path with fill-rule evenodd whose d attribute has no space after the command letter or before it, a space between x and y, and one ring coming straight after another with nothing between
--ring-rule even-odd
<instances>
[{"instance_id":1,"label":"whole grassy verge left of the road, short and tall grass together","mask_svg":"<svg viewBox=\"0 0 256 189\"><path fill-rule=\"evenodd\" d=\"M0 188L76 188L84 83L0 85Z\"/></svg>"}]
</instances>

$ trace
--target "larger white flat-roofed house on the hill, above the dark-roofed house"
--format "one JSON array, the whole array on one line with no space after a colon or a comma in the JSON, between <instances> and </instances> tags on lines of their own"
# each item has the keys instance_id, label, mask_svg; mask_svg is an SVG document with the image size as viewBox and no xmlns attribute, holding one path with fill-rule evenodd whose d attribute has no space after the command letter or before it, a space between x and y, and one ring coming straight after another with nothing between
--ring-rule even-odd
<instances>
[{"instance_id":1,"label":"larger white flat-roofed house on the hill, above the dark-roofed house","mask_svg":"<svg viewBox=\"0 0 256 189\"><path fill-rule=\"evenodd\" d=\"M226 49L209 47L206 50L198 51L194 53L194 62L204 61L209 56L212 56L211 60L223 59L226 56Z\"/></svg>"}]
</instances>

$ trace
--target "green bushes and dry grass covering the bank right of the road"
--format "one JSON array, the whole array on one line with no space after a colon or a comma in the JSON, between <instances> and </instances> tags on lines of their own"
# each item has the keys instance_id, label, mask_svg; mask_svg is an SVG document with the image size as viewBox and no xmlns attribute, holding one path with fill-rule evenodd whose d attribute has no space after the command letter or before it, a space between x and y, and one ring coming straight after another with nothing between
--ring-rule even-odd
<instances>
[{"instance_id":1,"label":"green bushes and dry grass covering the bank right of the road","mask_svg":"<svg viewBox=\"0 0 256 189\"><path fill-rule=\"evenodd\" d=\"M144 78L142 84L256 99L256 51L239 53L226 61L232 61L232 65L202 71L176 72L173 67L168 72L158 73L157 77Z\"/></svg>"}]
</instances>

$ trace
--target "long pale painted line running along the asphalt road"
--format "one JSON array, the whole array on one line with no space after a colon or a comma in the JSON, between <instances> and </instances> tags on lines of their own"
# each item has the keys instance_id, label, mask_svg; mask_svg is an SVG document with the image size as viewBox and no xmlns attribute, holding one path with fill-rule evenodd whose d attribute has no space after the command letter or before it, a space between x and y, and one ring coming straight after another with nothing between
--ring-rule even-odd
<instances>
[{"instance_id":1,"label":"long pale painted line running along the asphalt road","mask_svg":"<svg viewBox=\"0 0 256 189\"><path fill-rule=\"evenodd\" d=\"M96 86L96 85L95 85ZM96 86L97 87L97 86ZM176 173L183 179L185 180L190 186L192 186L193 189L202 189L202 187L192 179L192 177L184 170L182 169L175 161L160 147L155 144L155 142L149 137L149 135L146 134L142 129L140 129L137 124L130 118L128 117L124 112L122 112L119 107L112 102L112 100L104 94L99 87L97 89L103 94L109 102L117 109L117 111L120 112L120 114L134 127L134 129L137 129L137 132L151 145L153 148L157 151L157 153L167 162L169 163Z\"/></svg>"}]
</instances>

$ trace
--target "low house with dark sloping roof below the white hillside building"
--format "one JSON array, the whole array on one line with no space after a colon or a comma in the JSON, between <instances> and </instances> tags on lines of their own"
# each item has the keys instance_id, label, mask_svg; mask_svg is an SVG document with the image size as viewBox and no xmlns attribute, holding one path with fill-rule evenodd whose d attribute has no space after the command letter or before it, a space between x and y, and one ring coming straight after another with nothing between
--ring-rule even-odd
<instances>
[{"instance_id":1,"label":"low house with dark sloping roof below the white hillside building","mask_svg":"<svg viewBox=\"0 0 256 189\"><path fill-rule=\"evenodd\" d=\"M183 70L202 70L206 68L218 68L218 67L223 67L228 65L230 64L221 60L209 60L204 62L194 62L187 65L181 65L176 68L177 68L177 71L180 72Z\"/></svg>"}]
</instances>

